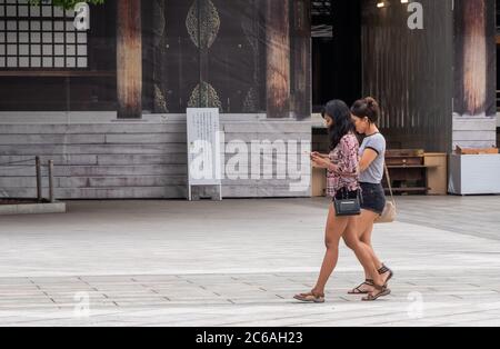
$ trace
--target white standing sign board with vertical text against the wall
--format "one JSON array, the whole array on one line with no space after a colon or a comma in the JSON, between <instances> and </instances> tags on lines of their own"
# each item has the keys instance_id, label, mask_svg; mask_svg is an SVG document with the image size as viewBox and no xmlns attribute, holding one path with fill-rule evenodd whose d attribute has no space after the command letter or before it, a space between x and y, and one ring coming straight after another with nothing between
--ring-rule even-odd
<instances>
[{"instance_id":1,"label":"white standing sign board with vertical text against the wall","mask_svg":"<svg viewBox=\"0 0 500 349\"><path fill-rule=\"evenodd\" d=\"M221 198L220 122L217 108L188 108L188 191L192 186L219 186Z\"/></svg>"}]
</instances>

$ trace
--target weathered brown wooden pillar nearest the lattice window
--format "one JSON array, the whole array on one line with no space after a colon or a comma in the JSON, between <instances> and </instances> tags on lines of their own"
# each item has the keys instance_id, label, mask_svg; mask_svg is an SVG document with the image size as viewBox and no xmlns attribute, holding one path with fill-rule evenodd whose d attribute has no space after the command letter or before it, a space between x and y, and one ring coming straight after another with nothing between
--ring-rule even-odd
<instances>
[{"instance_id":1,"label":"weathered brown wooden pillar nearest the lattice window","mask_svg":"<svg viewBox=\"0 0 500 349\"><path fill-rule=\"evenodd\" d=\"M141 1L117 1L118 118L142 116Z\"/></svg>"}]
</instances>

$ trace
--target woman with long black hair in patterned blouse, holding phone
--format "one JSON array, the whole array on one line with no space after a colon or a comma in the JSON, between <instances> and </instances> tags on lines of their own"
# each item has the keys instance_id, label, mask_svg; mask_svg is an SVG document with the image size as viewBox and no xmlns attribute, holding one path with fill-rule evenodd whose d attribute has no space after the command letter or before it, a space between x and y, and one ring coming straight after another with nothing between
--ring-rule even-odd
<instances>
[{"instance_id":1,"label":"woman with long black hair in patterned blouse, holding phone","mask_svg":"<svg viewBox=\"0 0 500 349\"><path fill-rule=\"evenodd\" d=\"M328 169L327 192L330 197L337 197L338 199L342 199L346 196L356 198L359 196L360 189L358 182L359 142L354 134L354 126L349 107L339 100L330 101L324 107L323 119L329 132L331 152L328 158L319 153L312 153L312 161L316 166ZM368 248L359 239L356 241L357 223L357 217L338 217L333 203L330 205L324 239L327 252L318 281L310 292L297 295L294 299L304 302L324 302L324 288L337 266L339 242L346 231L350 231L353 236L350 240L356 245L357 256L366 270L369 270L370 275L377 273ZM384 286L382 277L374 277L373 289L377 295L369 295L363 300L374 300L390 293L390 290Z\"/></svg>"}]
</instances>

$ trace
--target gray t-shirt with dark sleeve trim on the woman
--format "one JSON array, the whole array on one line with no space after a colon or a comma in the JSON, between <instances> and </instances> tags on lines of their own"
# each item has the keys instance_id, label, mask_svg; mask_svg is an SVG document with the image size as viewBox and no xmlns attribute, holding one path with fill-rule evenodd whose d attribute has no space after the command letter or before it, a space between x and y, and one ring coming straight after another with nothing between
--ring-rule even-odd
<instances>
[{"instance_id":1,"label":"gray t-shirt with dark sleeve trim on the woman","mask_svg":"<svg viewBox=\"0 0 500 349\"><path fill-rule=\"evenodd\" d=\"M359 148L359 154L362 157L366 149L371 149L378 153L378 157L371 162L367 170L361 172L359 178L360 182L373 185L382 182L386 147L386 138L381 133L374 133L364 138Z\"/></svg>"}]
</instances>

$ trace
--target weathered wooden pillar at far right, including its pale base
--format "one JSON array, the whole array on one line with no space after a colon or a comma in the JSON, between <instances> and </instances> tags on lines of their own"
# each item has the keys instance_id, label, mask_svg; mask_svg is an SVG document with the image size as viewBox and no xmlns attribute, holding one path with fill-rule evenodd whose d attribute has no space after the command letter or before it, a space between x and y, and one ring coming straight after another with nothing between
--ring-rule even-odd
<instances>
[{"instance_id":1,"label":"weathered wooden pillar at far right, including its pale base","mask_svg":"<svg viewBox=\"0 0 500 349\"><path fill-rule=\"evenodd\" d=\"M456 0L453 20L454 117L451 147L494 147L496 3L491 0Z\"/></svg>"}]
</instances>

